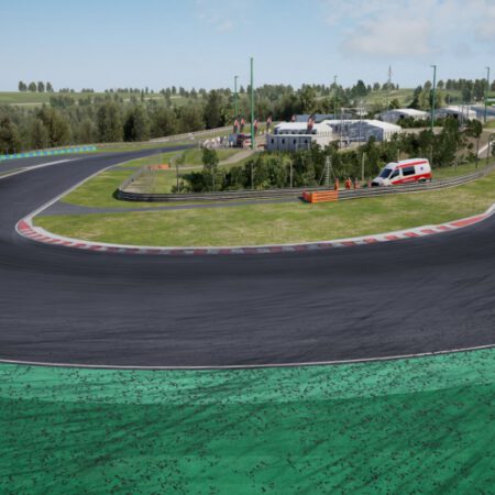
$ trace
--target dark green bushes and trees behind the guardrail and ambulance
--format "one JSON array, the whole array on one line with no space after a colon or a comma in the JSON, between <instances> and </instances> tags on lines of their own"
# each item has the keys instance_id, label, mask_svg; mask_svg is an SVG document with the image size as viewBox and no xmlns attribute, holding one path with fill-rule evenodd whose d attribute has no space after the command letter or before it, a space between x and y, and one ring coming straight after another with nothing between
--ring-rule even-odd
<instances>
[{"instance_id":1,"label":"dark green bushes and trees behind the guardrail and ambulance","mask_svg":"<svg viewBox=\"0 0 495 495\"><path fill-rule=\"evenodd\" d=\"M473 161L476 147L471 138L479 140L483 128L479 121L461 131L457 120L446 119L440 134L424 130L419 134L395 134L391 141L377 142L373 136L356 150L339 152L339 143L296 153L265 152L229 168L219 167L215 150L204 150L204 168L185 174L180 193L229 191L240 189L272 189L287 187L316 187L323 185L326 163L330 160L333 179L361 178L362 165L366 178L375 177L389 162L424 156L436 167L451 166L460 161ZM174 188L177 193L177 188Z\"/></svg>"}]
</instances>

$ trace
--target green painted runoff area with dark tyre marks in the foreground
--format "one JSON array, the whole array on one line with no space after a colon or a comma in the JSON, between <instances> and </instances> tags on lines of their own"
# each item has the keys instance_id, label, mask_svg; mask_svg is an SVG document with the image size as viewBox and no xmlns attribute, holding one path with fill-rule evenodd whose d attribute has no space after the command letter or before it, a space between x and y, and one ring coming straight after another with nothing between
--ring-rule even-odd
<instances>
[{"instance_id":1,"label":"green painted runoff area with dark tyre marks in the foreground","mask_svg":"<svg viewBox=\"0 0 495 495\"><path fill-rule=\"evenodd\" d=\"M495 349L237 371L0 365L0 493L493 493Z\"/></svg>"}]
</instances>

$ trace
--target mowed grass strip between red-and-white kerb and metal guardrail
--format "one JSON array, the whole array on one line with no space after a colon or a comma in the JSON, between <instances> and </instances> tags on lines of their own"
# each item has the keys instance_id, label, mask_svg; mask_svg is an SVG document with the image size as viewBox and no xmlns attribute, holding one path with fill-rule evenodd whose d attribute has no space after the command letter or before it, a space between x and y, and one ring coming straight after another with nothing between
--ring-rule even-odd
<instances>
[{"instance_id":1,"label":"mowed grass strip between red-and-white kerb and metal guardrail","mask_svg":"<svg viewBox=\"0 0 495 495\"><path fill-rule=\"evenodd\" d=\"M485 211L495 174L455 188L308 205L289 202L189 210L38 217L58 234L90 241L162 246L297 243L436 224Z\"/></svg>"}]
</instances>

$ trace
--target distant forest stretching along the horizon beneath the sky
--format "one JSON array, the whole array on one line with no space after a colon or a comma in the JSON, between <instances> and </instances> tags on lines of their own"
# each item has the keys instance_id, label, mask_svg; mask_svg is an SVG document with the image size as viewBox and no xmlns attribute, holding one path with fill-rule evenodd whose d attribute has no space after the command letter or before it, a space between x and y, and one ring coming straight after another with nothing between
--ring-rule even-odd
<instances>
[{"instance_id":1,"label":"distant forest stretching along the horizon beneath the sky","mask_svg":"<svg viewBox=\"0 0 495 495\"><path fill-rule=\"evenodd\" d=\"M482 101L486 79L440 80L437 102ZM492 84L495 90L495 81ZM20 92L50 94L47 103L29 108L0 107L0 154L41 150L67 144L142 142L153 138L230 125L234 120L231 89L186 90L182 87L154 92L148 88L118 88L103 94L85 88L54 91L51 82L19 81ZM385 108L409 107L427 110L431 82L400 90L397 85L359 80L354 86L264 85L255 89L255 117L289 120L297 113L333 113L363 105L370 116ZM250 116L250 87L240 87L239 114ZM376 97L376 98L375 98Z\"/></svg>"}]
</instances>

